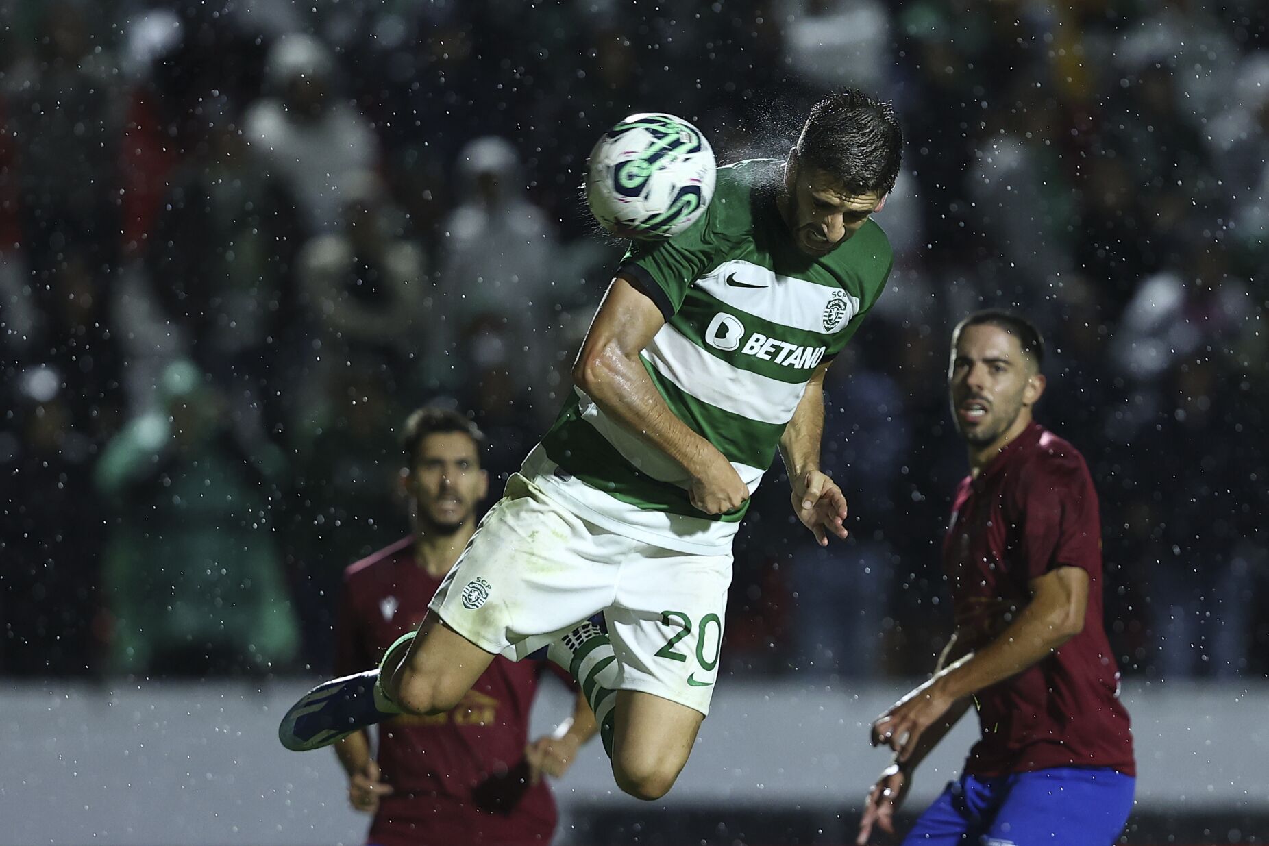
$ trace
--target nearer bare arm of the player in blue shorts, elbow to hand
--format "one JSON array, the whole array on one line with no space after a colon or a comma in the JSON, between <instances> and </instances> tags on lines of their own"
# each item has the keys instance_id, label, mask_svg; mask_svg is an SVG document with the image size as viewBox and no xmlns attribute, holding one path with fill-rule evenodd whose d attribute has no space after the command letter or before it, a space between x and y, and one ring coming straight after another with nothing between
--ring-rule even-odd
<instances>
[{"instance_id":1,"label":"nearer bare arm of the player in blue shorts, elbow to hand","mask_svg":"<svg viewBox=\"0 0 1269 846\"><path fill-rule=\"evenodd\" d=\"M1057 567L1030 580L1030 601L985 647L952 662L882 714L872 727L873 745L895 750L902 764L921 734L957 700L1004 681L1043 661L1084 629L1089 575Z\"/></svg>"}]
</instances>

